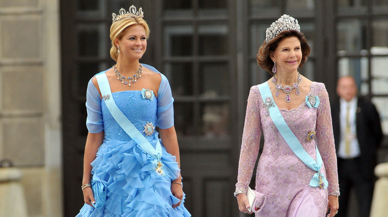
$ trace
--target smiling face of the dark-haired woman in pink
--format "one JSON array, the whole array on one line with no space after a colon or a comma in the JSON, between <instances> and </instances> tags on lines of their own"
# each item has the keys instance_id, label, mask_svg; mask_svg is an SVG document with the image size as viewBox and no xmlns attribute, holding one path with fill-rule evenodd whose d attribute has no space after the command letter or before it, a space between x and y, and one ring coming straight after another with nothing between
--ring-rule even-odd
<instances>
[{"instance_id":1,"label":"smiling face of the dark-haired woman in pink","mask_svg":"<svg viewBox=\"0 0 388 217\"><path fill-rule=\"evenodd\" d=\"M301 58L300 41L296 37L283 39L271 55L271 59L276 61L278 72L293 72L297 70Z\"/></svg>"}]
</instances>

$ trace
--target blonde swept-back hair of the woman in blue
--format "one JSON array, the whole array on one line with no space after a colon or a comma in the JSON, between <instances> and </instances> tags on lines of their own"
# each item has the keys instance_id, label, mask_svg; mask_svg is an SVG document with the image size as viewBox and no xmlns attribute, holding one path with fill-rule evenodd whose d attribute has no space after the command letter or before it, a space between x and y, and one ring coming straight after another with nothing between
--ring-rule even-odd
<instances>
[{"instance_id":1,"label":"blonde swept-back hair of the woman in blue","mask_svg":"<svg viewBox=\"0 0 388 217\"><path fill-rule=\"evenodd\" d=\"M132 25L143 26L148 40L148 37L150 35L150 28L148 27L147 22L141 17L124 18L112 23L112 25L110 26L110 35L109 35L110 40L112 41L112 47L110 48L110 56L115 61L117 61L118 53L117 53L117 47L114 44L114 39L117 38L118 40L120 40L124 36L127 28Z\"/></svg>"}]
</instances>

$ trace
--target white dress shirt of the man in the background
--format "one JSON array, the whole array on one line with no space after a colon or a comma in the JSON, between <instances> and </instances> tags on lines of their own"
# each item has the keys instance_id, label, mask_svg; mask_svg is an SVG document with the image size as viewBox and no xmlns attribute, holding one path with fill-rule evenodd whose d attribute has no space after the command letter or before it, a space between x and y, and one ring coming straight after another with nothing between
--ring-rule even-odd
<instances>
[{"instance_id":1,"label":"white dress shirt of the man in the background","mask_svg":"<svg viewBox=\"0 0 388 217\"><path fill-rule=\"evenodd\" d=\"M346 110L349 106L349 122L350 133L346 133ZM338 157L342 159L357 158L360 156L360 146L357 140L356 134L356 112L357 112L357 97L354 97L351 101L346 102L344 99L340 99L340 126L341 126L341 141L339 144ZM350 140L350 152L345 152L345 139Z\"/></svg>"}]
</instances>

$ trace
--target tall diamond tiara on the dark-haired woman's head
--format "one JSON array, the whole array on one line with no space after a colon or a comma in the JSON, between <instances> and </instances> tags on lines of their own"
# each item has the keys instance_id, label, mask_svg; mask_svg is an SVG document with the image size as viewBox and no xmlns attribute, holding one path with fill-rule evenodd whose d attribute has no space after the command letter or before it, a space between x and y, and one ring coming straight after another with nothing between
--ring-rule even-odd
<instances>
[{"instance_id":1,"label":"tall diamond tiara on the dark-haired woman's head","mask_svg":"<svg viewBox=\"0 0 388 217\"><path fill-rule=\"evenodd\" d=\"M283 16L281 16L277 21L273 22L270 28L267 29L266 43L268 44L272 39L286 30L296 30L300 32L300 26L295 18L287 14L283 14Z\"/></svg>"}]
</instances>

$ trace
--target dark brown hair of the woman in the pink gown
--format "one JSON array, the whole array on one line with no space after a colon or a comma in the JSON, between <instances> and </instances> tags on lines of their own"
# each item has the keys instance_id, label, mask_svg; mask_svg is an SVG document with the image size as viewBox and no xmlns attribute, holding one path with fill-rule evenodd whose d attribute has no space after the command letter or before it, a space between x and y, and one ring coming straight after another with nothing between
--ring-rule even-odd
<instances>
[{"instance_id":1,"label":"dark brown hair of the woman in the pink gown","mask_svg":"<svg viewBox=\"0 0 388 217\"><path fill-rule=\"evenodd\" d=\"M274 61L271 59L271 54L275 52L278 48L279 43L286 38L296 37L300 41L300 49L302 51L302 59L299 64L299 68L302 68L304 63L307 62L307 56L310 54L310 46L307 44L306 38L304 38L303 33L300 33L296 30L286 30L279 33L273 40L271 40L268 44L264 40L263 45L259 49L259 53L256 55L257 64L259 66L268 71L270 75L273 75L272 67L274 67Z\"/></svg>"}]
</instances>

